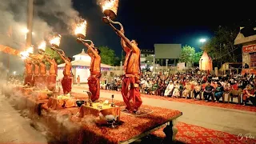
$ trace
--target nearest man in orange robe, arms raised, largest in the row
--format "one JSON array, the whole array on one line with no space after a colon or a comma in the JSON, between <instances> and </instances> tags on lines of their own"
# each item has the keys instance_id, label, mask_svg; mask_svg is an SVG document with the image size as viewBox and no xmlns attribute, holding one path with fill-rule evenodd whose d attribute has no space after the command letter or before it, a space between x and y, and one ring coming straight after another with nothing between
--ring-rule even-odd
<instances>
[{"instance_id":1,"label":"nearest man in orange robe, arms raised, largest in the row","mask_svg":"<svg viewBox=\"0 0 256 144\"><path fill-rule=\"evenodd\" d=\"M126 103L126 110L138 114L138 108L142 105L142 98L139 92L139 78L141 74L140 50L135 40L130 41L124 35L124 30L117 30L116 33L121 37L121 45L126 52L124 62L125 75L122 79L122 98ZM130 90L129 90L130 86Z\"/></svg>"}]
</instances>

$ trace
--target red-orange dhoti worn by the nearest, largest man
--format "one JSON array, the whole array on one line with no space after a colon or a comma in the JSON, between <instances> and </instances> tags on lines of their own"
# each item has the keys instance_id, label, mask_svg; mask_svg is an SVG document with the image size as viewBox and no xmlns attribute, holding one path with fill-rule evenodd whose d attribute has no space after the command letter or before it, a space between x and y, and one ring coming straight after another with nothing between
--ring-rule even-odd
<instances>
[{"instance_id":1,"label":"red-orange dhoti worn by the nearest, largest man","mask_svg":"<svg viewBox=\"0 0 256 144\"><path fill-rule=\"evenodd\" d=\"M138 88L138 79L136 77L125 77L122 79L122 98L126 103L126 110L136 111L142 106L142 98ZM130 86L130 90L129 90ZM130 100L132 100L130 102Z\"/></svg>"}]
</instances>

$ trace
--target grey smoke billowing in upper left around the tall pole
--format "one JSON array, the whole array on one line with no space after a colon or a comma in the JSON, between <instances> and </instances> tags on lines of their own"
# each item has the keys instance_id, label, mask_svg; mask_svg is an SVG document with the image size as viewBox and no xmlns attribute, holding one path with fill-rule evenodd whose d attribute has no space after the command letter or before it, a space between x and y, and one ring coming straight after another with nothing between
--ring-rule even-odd
<instances>
[{"instance_id":1,"label":"grey smoke billowing in upper left around the tall pole","mask_svg":"<svg viewBox=\"0 0 256 144\"><path fill-rule=\"evenodd\" d=\"M25 46L27 3L28 0L0 2L0 44L17 50ZM34 0L33 44L36 46L51 34L70 34L70 28L78 18L79 13L74 10L72 0ZM11 37L7 37L8 34ZM0 52L0 55L6 59L6 54ZM10 63L17 63L18 59L10 58ZM17 65L22 65L22 61Z\"/></svg>"}]
</instances>

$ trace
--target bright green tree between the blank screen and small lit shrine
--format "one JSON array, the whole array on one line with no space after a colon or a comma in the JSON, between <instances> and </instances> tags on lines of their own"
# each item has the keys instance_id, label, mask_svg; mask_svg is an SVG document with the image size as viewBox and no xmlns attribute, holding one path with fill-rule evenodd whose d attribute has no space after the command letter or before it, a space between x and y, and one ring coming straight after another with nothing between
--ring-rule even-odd
<instances>
[{"instance_id":1,"label":"bright green tree between the blank screen and small lit shrine","mask_svg":"<svg viewBox=\"0 0 256 144\"><path fill-rule=\"evenodd\" d=\"M194 47L183 46L182 53L179 57L180 62L185 62L186 64L198 63L202 56L202 51L196 53Z\"/></svg>"}]
</instances>

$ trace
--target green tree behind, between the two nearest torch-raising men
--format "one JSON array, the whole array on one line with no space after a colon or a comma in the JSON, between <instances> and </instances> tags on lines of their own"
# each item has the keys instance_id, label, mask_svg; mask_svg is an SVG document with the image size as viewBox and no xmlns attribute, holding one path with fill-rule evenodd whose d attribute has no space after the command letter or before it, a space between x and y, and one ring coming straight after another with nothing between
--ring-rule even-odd
<instances>
[{"instance_id":1,"label":"green tree behind, between the two nearest torch-raising men","mask_svg":"<svg viewBox=\"0 0 256 144\"><path fill-rule=\"evenodd\" d=\"M98 49L101 50L102 63L110 66L120 65L120 60L114 54L114 50L110 49L107 46L100 46L98 47Z\"/></svg>"}]
</instances>

